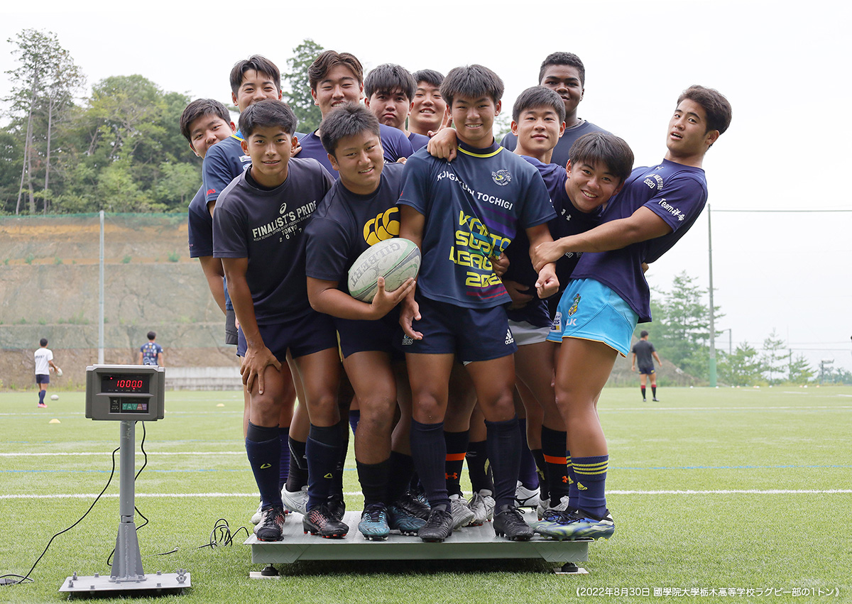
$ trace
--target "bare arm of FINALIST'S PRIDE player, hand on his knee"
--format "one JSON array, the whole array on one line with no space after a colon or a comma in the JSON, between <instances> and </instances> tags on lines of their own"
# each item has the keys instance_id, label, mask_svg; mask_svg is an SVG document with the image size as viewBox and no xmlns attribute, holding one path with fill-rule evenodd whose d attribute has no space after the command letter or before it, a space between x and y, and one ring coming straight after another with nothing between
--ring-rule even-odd
<instances>
[{"instance_id":1,"label":"bare arm of FINALIST'S PRIDE player, hand on his knee","mask_svg":"<svg viewBox=\"0 0 852 604\"><path fill-rule=\"evenodd\" d=\"M245 280L245 271L248 266L248 258L222 258L222 267L227 277L227 292L231 295L233 312L239 319L239 326L243 330L247 346L239 372L243 376L245 388L251 391L257 378L257 391L263 394L263 371L268 365L273 365L275 369L281 371L281 363L263 343L257 327L254 302L251 301L251 291Z\"/></svg>"}]
</instances>

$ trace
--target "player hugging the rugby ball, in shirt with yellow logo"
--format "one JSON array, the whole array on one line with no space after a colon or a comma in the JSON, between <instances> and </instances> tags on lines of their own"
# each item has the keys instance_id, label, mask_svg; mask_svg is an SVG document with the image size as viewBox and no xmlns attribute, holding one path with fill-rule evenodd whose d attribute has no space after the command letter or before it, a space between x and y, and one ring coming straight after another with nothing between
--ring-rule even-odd
<instances>
[{"instance_id":1,"label":"player hugging the rugby ball, in shirt with yellow logo","mask_svg":"<svg viewBox=\"0 0 852 604\"><path fill-rule=\"evenodd\" d=\"M321 129L340 179L308 227L308 297L316 310L335 317L343 367L360 404L355 461L364 512L358 528L368 539L386 538L394 529L416 533L424 521L396 504L413 466L407 434L411 407L405 398L394 428L397 380L405 377L405 369L392 343L399 320L395 307L413 288L413 279L387 292L379 278L371 302L354 299L346 289L348 267L358 256L399 232L396 202L403 166L384 165L377 118L364 106L349 103L333 109Z\"/></svg>"}]
</instances>

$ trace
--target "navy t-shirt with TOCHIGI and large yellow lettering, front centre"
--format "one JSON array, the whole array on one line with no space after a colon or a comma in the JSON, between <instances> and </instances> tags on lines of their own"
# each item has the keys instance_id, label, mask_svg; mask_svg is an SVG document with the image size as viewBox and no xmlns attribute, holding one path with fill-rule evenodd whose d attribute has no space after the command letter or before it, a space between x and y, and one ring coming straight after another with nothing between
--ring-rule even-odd
<instances>
[{"instance_id":1,"label":"navy t-shirt with TOCHIGI and large yellow lettering, front centre","mask_svg":"<svg viewBox=\"0 0 852 604\"><path fill-rule=\"evenodd\" d=\"M426 149L414 153L399 203L426 219L417 290L467 308L509 302L492 259L519 229L556 216L538 170L496 143L474 149L459 141L452 163Z\"/></svg>"}]
</instances>

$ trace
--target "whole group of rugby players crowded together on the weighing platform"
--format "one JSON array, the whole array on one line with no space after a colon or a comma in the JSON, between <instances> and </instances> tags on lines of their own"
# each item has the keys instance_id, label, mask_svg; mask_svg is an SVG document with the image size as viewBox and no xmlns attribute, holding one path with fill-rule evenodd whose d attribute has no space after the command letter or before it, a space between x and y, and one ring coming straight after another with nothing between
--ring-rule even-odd
<instances>
[{"instance_id":1,"label":"whole group of rugby players crowded together on the weighing platform","mask_svg":"<svg viewBox=\"0 0 852 604\"><path fill-rule=\"evenodd\" d=\"M665 158L632 170L625 141L577 116L576 55L544 60L501 143L504 85L484 66L444 78L386 64L365 80L328 50L308 77L323 119L307 135L257 55L231 72L239 130L216 101L181 116L204 158L190 252L241 357L256 537L279 540L289 511L305 532L347 534L352 404L365 538L440 542L486 521L511 540L609 538L597 399L651 320L644 265L705 205L701 163L728 101L685 90ZM420 247L417 279L349 296L354 260L397 235ZM538 470L532 524L517 507L522 459Z\"/></svg>"}]
</instances>

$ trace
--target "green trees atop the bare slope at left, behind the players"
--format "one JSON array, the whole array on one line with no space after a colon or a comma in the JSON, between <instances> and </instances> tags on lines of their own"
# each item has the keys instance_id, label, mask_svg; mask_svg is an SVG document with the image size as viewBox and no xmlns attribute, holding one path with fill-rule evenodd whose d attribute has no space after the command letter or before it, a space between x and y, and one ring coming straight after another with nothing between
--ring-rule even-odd
<instances>
[{"instance_id":1,"label":"green trees atop the bare slope at left, behind the players","mask_svg":"<svg viewBox=\"0 0 852 604\"><path fill-rule=\"evenodd\" d=\"M86 77L55 33L24 29L8 42L16 65L3 98L0 214L186 211L201 184L201 159L179 127L191 97L135 74L104 78L81 100ZM307 70L322 50L303 41L284 73L300 131L320 123Z\"/></svg>"}]
</instances>

